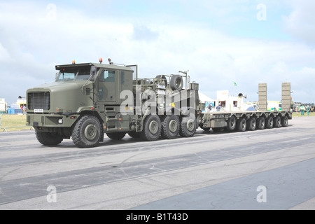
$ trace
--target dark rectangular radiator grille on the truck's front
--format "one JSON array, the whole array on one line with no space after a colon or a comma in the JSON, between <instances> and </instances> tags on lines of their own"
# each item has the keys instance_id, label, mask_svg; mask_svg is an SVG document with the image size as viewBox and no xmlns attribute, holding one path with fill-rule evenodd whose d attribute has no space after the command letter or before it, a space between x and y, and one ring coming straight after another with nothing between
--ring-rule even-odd
<instances>
[{"instance_id":1,"label":"dark rectangular radiator grille on the truck's front","mask_svg":"<svg viewBox=\"0 0 315 224\"><path fill-rule=\"evenodd\" d=\"M49 92L29 92L27 94L27 108L29 110L43 109L50 110Z\"/></svg>"}]
</instances>

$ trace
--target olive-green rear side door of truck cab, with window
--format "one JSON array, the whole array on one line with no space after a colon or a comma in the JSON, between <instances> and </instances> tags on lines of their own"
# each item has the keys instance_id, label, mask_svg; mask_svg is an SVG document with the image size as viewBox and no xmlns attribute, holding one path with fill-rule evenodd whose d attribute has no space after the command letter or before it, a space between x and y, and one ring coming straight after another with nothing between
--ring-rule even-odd
<instances>
[{"instance_id":1,"label":"olive-green rear side door of truck cab, with window","mask_svg":"<svg viewBox=\"0 0 315 224\"><path fill-rule=\"evenodd\" d=\"M102 70L99 75L99 102L117 103L118 71Z\"/></svg>"}]
</instances>

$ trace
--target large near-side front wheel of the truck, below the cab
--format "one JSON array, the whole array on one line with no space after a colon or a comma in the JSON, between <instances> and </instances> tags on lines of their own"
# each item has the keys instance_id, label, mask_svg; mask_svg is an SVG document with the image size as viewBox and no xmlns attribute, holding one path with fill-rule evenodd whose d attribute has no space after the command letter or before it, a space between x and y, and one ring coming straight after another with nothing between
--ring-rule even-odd
<instances>
[{"instance_id":1,"label":"large near-side front wheel of the truck, below the cab","mask_svg":"<svg viewBox=\"0 0 315 224\"><path fill-rule=\"evenodd\" d=\"M73 128L73 143L80 148L97 146L101 139L101 123L94 116L83 116Z\"/></svg>"}]
</instances>

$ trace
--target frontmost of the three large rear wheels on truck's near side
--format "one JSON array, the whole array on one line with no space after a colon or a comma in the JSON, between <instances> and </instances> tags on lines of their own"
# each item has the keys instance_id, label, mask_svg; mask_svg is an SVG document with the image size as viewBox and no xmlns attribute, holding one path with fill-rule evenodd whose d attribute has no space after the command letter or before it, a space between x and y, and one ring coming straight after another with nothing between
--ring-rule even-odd
<instances>
[{"instance_id":1,"label":"frontmost of the three large rear wheels on truck's near side","mask_svg":"<svg viewBox=\"0 0 315 224\"><path fill-rule=\"evenodd\" d=\"M144 130L140 137L145 141L156 141L161 134L161 121L157 115L149 115L144 120Z\"/></svg>"}]
</instances>

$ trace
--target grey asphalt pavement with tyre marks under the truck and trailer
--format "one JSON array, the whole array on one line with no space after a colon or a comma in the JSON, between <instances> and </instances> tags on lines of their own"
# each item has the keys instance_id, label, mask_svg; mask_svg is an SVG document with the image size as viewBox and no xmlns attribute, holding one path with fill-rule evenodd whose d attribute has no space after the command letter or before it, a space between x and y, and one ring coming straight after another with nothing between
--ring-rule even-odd
<instances>
[{"instance_id":1,"label":"grey asphalt pavement with tyre marks under the truck and trailer","mask_svg":"<svg viewBox=\"0 0 315 224\"><path fill-rule=\"evenodd\" d=\"M252 132L41 146L0 133L0 210L315 209L315 117Z\"/></svg>"}]
</instances>

